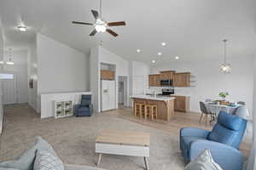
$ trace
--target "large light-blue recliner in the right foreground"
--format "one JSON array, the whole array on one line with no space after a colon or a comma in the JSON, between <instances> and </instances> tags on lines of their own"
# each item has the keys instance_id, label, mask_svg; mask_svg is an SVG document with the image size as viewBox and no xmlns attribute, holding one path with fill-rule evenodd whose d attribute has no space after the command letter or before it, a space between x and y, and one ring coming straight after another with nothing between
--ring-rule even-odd
<instances>
[{"instance_id":1,"label":"large light-blue recliner in the right foreground","mask_svg":"<svg viewBox=\"0 0 256 170\"><path fill-rule=\"evenodd\" d=\"M212 132L195 127L180 130L180 150L186 162L194 160L205 149L224 170L241 170L244 156L238 150L247 128L247 121L224 111Z\"/></svg>"}]
</instances>

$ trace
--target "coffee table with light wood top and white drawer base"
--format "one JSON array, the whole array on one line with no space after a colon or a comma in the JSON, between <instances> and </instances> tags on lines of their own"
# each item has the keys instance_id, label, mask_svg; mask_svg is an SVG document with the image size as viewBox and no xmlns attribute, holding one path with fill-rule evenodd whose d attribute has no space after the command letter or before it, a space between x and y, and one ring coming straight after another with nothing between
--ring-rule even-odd
<instances>
[{"instance_id":1,"label":"coffee table with light wood top and white drawer base","mask_svg":"<svg viewBox=\"0 0 256 170\"><path fill-rule=\"evenodd\" d=\"M102 154L121 156L143 156L148 170L150 134L124 130L102 130L96 137L96 153L99 153L97 166Z\"/></svg>"}]
</instances>

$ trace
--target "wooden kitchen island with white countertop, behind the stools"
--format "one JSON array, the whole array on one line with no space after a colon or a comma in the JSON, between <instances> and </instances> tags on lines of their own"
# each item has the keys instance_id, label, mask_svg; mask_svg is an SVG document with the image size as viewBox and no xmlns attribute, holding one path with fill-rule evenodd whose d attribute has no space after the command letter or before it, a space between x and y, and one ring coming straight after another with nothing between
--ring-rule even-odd
<instances>
[{"instance_id":1,"label":"wooden kitchen island with white countertop, behind the stools","mask_svg":"<svg viewBox=\"0 0 256 170\"><path fill-rule=\"evenodd\" d=\"M133 108L135 103L157 105L157 119L169 122L174 115L174 97L154 95L132 95Z\"/></svg>"}]
</instances>

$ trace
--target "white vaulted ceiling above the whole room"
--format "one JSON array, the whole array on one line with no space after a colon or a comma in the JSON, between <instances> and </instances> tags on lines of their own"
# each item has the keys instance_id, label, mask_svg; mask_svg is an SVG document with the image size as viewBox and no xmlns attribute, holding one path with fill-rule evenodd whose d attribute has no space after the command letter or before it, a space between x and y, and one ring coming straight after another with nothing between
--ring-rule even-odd
<instances>
[{"instance_id":1,"label":"white vaulted ceiling above the whole room","mask_svg":"<svg viewBox=\"0 0 256 170\"><path fill-rule=\"evenodd\" d=\"M97 0L1 0L5 43L26 45L39 31L85 54L102 40L113 53L146 62L172 62L177 55L181 60L221 59L224 38L230 40L230 57L255 52L253 0L102 0L105 20L126 21L127 26L113 28L119 37L108 33L89 37L92 26L71 24L72 20L93 22L90 9L98 8ZM28 31L17 31L22 22ZM162 56L157 56L159 52Z\"/></svg>"}]
</instances>

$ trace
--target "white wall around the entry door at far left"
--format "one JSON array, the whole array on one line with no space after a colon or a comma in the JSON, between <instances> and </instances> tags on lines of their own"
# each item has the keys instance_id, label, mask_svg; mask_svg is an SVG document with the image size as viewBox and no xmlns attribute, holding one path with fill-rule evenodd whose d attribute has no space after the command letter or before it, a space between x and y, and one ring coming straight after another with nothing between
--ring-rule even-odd
<instances>
[{"instance_id":1,"label":"white wall around the entry door at far left","mask_svg":"<svg viewBox=\"0 0 256 170\"><path fill-rule=\"evenodd\" d=\"M9 50L4 52L3 59L9 60ZM16 81L16 102L28 102L28 83L27 83L27 50L11 51L11 59L15 65L3 65L3 71L15 74ZM5 81L5 80L3 80ZM4 96L3 96L4 98ZM4 100L3 100L4 101Z\"/></svg>"}]
</instances>

